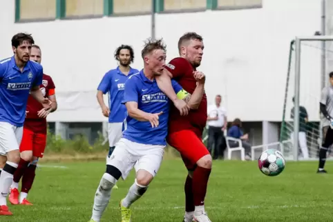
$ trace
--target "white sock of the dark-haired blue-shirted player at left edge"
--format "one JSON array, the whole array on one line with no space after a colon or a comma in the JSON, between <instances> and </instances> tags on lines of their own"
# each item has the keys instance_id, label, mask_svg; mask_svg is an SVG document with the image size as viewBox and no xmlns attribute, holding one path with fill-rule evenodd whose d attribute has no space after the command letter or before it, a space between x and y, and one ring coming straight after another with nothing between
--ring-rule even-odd
<instances>
[{"instance_id":1,"label":"white sock of the dark-haired blue-shirted player at left edge","mask_svg":"<svg viewBox=\"0 0 333 222\"><path fill-rule=\"evenodd\" d=\"M10 161L6 162L6 165L11 165L13 168L17 168L17 163ZM6 166L5 165L5 166ZM6 170L2 170L0 174L0 205L7 205L6 197L9 194L10 185L12 185L13 174L10 174Z\"/></svg>"}]
</instances>

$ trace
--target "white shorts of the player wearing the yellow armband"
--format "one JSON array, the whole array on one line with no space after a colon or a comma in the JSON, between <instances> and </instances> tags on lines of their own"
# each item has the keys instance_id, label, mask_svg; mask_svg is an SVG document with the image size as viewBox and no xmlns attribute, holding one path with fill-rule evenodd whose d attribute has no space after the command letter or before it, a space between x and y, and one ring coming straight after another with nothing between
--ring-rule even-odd
<instances>
[{"instance_id":1,"label":"white shorts of the player wearing the yellow armband","mask_svg":"<svg viewBox=\"0 0 333 222\"><path fill-rule=\"evenodd\" d=\"M135 172L146 170L155 176L162 163L164 148L164 145L146 145L122 138L106 164L120 170L122 179L126 179L134 165Z\"/></svg>"}]
</instances>

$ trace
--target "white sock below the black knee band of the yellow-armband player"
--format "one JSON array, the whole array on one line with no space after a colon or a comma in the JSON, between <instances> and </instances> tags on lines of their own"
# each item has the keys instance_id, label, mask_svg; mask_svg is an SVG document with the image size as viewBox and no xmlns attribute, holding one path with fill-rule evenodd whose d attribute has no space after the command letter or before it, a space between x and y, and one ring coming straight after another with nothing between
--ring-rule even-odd
<instances>
[{"instance_id":1,"label":"white sock below the black knee band of the yellow-armband player","mask_svg":"<svg viewBox=\"0 0 333 222\"><path fill-rule=\"evenodd\" d=\"M111 198L111 190L116 182L117 180L110 174L103 174L95 193L93 216L91 216L94 221L99 222L102 218L102 214Z\"/></svg>"}]
</instances>

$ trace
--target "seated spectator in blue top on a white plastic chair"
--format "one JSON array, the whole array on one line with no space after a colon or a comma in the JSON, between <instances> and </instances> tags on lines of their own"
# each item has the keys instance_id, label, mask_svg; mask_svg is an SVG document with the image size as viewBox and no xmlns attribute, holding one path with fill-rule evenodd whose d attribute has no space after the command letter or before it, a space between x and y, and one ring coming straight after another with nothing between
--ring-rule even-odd
<instances>
[{"instance_id":1,"label":"seated spectator in blue top on a white plastic chair","mask_svg":"<svg viewBox=\"0 0 333 222\"><path fill-rule=\"evenodd\" d=\"M240 119L235 119L232 122L231 128L228 130L228 137L232 137L234 139L240 139L242 141L242 148L245 149L245 159L251 159L251 144L249 143L249 134L244 134L241 130L242 122ZM227 141L229 142L230 148L238 148L239 143L236 141Z\"/></svg>"}]
</instances>

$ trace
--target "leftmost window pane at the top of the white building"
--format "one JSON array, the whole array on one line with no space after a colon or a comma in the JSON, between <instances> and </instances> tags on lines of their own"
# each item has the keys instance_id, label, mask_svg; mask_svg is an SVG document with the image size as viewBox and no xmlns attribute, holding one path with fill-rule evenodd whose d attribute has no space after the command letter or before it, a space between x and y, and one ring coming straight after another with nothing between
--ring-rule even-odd
<instances>
[{"instance_id":1,"label":"leftmost window pane at the top of the white building","mask_svg":"<svg viewBox=\"0 0 333 222\"><path fill-rule=\"evenodd\" d=\"M21 0L19 20L25 19L55 19L55 1L53 0Z\"/></svg>"}]
</instances>

